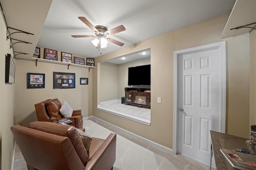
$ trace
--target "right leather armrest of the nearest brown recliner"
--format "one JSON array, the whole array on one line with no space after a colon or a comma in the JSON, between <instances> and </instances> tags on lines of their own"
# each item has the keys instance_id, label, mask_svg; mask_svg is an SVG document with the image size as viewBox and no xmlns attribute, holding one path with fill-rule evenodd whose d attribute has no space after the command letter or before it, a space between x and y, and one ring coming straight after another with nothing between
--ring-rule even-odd
<instances>
[{"instance_id":1,"label":"right leather armrest of the nearest brown recliner","mask_svg":"<svg viewBox=\"0 0 256 170\"><path fill-rule=\"evenodd\" d=\"M111 133L88 160L85 170L110 170L116 161L116 134Z\"/></svg>"}]
</instances>

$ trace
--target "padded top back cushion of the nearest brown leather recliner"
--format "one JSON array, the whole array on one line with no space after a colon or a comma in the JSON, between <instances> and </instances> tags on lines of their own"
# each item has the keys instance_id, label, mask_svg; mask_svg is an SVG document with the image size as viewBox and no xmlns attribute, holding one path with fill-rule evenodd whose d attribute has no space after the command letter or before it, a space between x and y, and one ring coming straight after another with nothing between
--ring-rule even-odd
<instances>
[{"instance_id":1,"label":"padded top back cushion of the nearest brown leather recliner","mask_svg":"<svg viewBox=\"0 0 256 170\"><path fill-rule=\"evenodd\" d=\"M70 125L61 125L61 124L52 123L52 122L36 121L36 122L30 123L28 125L28 128L33 128L43 132L68 137L70 142L73 144L82 163L84 164L87 162L88 155L87 155L86 149L75 127L72 127Z\"/></svg>"}]
</instances>

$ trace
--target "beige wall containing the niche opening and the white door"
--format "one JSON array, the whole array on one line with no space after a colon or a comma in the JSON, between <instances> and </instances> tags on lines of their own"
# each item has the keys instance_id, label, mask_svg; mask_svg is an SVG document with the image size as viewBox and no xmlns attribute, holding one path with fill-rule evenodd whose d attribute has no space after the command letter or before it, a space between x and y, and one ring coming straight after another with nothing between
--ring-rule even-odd
<instances>
[{"instance_id":1,"label":"beige wall containing the niche opening and the white door","mask_svg":"<svg viewBox=\"0 0 256 170\"><path fill-rule=\"evenodd\" d=\"M220 40L229 13L163 34L96 58L107 59L151 49L151 125L143 125L96 109L97 89L93 89L93 115L172 148L173 142L173 52L199 45L226 41L227 100L226 133L248 138L249 130L249 35ZM94 87L97 72L93 72ZM156 98L162 97L162 103Z\"/></svg>"}]
</instances>

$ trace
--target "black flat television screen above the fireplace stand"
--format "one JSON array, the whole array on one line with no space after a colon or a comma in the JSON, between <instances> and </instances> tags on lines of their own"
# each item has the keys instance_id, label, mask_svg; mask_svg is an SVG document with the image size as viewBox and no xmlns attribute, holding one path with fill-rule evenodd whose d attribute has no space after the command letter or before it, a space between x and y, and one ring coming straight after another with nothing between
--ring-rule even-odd
<instances>
[{"instance_id":1,"label":"black flat television screen above the fireplace stand","mask_svg":"<svg viewBox=\"0 0 256 170\"><path fill-rule=\"evenodd\" d=\"M128 85L150 85L150 64L129 67Z\"/></svg>"}]
</instances>

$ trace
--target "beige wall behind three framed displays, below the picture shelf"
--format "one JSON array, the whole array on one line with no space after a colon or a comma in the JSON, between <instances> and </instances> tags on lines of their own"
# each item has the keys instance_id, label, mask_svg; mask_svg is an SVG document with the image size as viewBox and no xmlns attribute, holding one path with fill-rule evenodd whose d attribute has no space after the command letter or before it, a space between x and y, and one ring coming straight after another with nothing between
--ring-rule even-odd
<instances>
[{"instance_id":1,"label":"beige wall behind three framed displays, below the picture shelf","mask_svg":"<svg viewBox=\"0 0 256 170\"><path fill-rule=\"evenodd\" d=\"M40 48L41 51L44 48ZM41 52L41 58L43 52ZM61 52L58 51L58 61L60 60ZM72 55L74 56L74 54ZM78 56L78 55L75 55ZM78 56L81 57L81 56ZM73 58L73 57L72 57ZM15 84L15 115L14 121L16 124L27 126L28 123L36 121L36 112L34 104L46 99L58 98L61 102L66 100L72 109L82 109L83 117L88 117L91 114L92 107L92 72L85 67L60 65L55 63L38 62L37 67L35 61L16 59L16 83ZM65 72L76 74L76 88L72 89L53 89L53 72ZM45 88L44 89L27 89L27 73L44 73ZM80 85L80 77L88 78L88 85Z\"/></svg>"}]
</instances>

